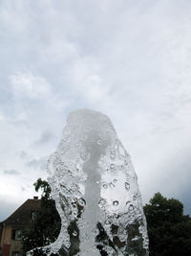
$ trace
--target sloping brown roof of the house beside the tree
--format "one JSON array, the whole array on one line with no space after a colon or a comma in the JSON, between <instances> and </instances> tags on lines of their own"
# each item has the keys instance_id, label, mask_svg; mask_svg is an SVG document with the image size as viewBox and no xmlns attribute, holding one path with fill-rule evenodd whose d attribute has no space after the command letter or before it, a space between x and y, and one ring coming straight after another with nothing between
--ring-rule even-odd
<instances>
[{"instance_id":1,"label":"sloping brown roof of the house beside the tree","mask_svg":"<svg viewBox=\"0 0 191 256\"><path fill-rule=\"evenodd\" d=\"M40 199L28 199L1 224L25 225L32 220L32 212L38 211L39 208Z\"/></svg>"}]
</instances>

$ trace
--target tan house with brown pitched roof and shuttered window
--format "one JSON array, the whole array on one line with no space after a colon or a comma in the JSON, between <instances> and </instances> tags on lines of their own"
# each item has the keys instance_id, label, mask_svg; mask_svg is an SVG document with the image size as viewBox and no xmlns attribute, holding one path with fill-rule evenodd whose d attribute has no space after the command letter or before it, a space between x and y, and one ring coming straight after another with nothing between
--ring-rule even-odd
<instances>
[{"instance_id":1,"label":"tan house with brown pitched roof and shuttered window","mask_svg":"<svg viewBox=\"0 0 191 256\"><path fill-rule=\"evenodd\" d=\"M40 199L26 200L11 216L0 223L0 256L22 256L22 232L40 208Z\"/></svg>"}]
</instances>

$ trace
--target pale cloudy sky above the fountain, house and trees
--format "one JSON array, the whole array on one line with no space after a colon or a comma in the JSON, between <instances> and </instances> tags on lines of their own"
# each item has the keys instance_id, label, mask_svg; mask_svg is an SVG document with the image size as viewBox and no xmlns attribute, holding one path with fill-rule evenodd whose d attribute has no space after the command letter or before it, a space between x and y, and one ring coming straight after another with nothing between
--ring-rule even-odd
<instances>
[{"instance_id":1,"label":"pale cloudy sky above the fountain, house and trees","mask_svg":"<svg viewBox=\"0 0 191 256\"><path fill-rule=\"evenodd\" d=\"M69 112L110 117L143 203L191 215L191 1L0 1L0 221L47 178Z\"/></svg>"}]
</instances>

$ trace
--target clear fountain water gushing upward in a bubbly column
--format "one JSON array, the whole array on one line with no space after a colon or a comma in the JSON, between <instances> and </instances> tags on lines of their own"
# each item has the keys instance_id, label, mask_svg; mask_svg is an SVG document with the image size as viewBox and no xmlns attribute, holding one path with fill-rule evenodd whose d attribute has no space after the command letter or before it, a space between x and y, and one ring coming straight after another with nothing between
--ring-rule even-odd
<instances>
[{"instance_id":1,"label":"clear fountain water gushing upward in a bubbly column","mask_svg":"<svg viewBox=\"0 0 191 256\"><path fill-rule=\"evenodd\" d=\"M137 175L107 116L70 113L48 172L62 224L46 255L148 255Z\"/></svg>"}]
</instances>

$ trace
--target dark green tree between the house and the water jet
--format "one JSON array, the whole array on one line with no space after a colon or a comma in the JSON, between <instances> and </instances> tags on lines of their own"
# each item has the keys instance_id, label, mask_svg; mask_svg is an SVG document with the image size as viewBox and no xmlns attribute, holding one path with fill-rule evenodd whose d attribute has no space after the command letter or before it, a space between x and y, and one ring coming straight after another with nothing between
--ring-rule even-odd
<instances>
[{"instance_id":1,"label":"dark green tree between the house and the water jet","mask_svg":"<svg viewBox=\"0 0 191 256\"><path fill-rule=\"evenodd\" d=\"M60 217L55 209L54 200L50 198L51 187L49 183L38 178L33 185L36 192L38 192L39 189L42 192L41 208L31 225L24 232L24 255L32 248L53 243L59 234L61 226ZM36 252L36 255L42 254L37 254Z\"/></svg>"}]
</instances>

